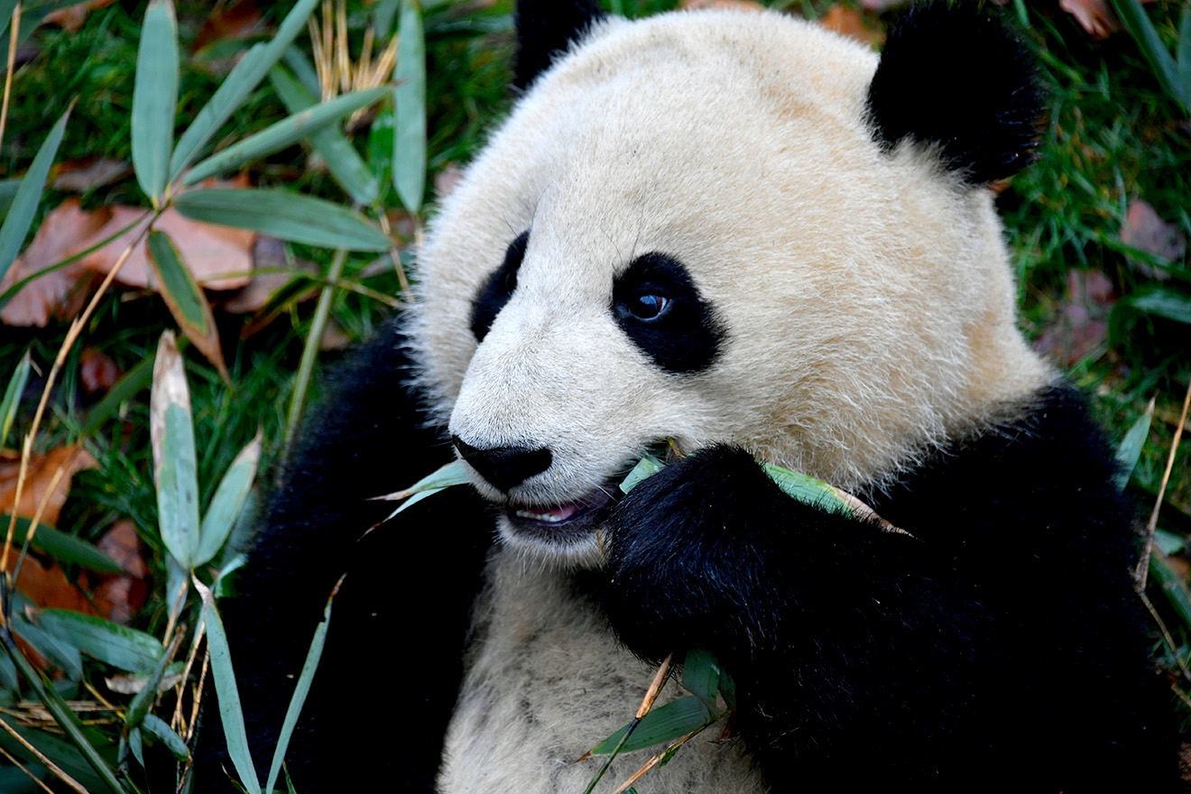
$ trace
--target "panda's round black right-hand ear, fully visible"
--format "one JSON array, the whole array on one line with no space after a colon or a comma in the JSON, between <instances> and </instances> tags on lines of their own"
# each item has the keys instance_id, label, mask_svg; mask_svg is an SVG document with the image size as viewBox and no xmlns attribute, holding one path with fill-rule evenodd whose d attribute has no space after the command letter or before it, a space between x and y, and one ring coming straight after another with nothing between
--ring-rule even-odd
<instances>
[{"instance_id":1,"label":"panda's round black right-hand ear, fully visible","mask_svg":"<svg viewBox=\"0 0 1191 794\"><path fill-rule=\"evenodd\" d=\"M969 185L1010 176L1033 157L1042 115L1034 58L975 4L912 8L890 35L868 87L877 142L936 144Z\"/></svg>"}]
</instances>

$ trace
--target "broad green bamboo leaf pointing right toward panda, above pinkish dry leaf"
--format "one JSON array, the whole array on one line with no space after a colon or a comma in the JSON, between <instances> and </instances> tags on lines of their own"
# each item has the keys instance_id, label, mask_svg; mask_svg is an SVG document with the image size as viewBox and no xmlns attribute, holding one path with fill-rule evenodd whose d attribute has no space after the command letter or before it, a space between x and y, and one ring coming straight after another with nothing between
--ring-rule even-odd
<instances>
[{"instance_id":1,"label":"broad green bamboo leaf pointing right toward panda, above pinkish dry leaf","mask_svg":"<svg viewBox=\"0 0 1191 794\"><path fill-rule=\"evenodd\" d=\"M283 189L192 190L177 196L191 220L251 229L294 243L353 251L387 251L392 243L357 213Z\"/></svg>"}]
</instances>

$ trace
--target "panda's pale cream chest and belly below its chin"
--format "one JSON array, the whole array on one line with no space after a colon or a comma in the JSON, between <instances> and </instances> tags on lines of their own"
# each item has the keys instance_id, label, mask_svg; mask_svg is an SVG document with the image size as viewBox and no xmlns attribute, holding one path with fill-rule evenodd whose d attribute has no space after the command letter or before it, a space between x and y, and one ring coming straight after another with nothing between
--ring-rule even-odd
<instances>
[{"instance_id":1,"label":"panda's pale cream chest and belly below its chin","mask_svg":"<svg viewBox=\"0 0 1191 794\"><path fill-rule=\"evenodd\" d=\"M438 789L580 794L603 758L578 759L632 718L654 670L617 644L565 574L543 573L507 554L488 574ZM684 694L672 680L657 702ZM741 743L717 736L712 729L696 737L663 769L650 771L640 790L766 792ZM618 757L598 790L615 790L650 755Z\"/></svg>"}]
</instances>

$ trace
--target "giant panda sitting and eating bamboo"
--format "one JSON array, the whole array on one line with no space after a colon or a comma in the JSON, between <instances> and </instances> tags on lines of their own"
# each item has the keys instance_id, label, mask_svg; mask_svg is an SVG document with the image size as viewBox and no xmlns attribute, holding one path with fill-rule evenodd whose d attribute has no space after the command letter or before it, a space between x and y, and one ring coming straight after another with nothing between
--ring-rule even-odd
<instances>
[{"instance_id":1,"label":"giant panda sitting and eating bamboo","mask_svg":"<svg viewBox=\"0 0 1191 794\"><path fill-rule=\"evenodd\" d=\"M303 794L578 794L692 650L732 724L642 794L1174 786L1112 450L1015 324L1018 37L941 2L880 56L777 13L526 0L518 30L414 305L335 377L224 602L257 763L347 573ZM456 458L470 488L382 523ZM205 730L197 790L230 790Z\"/></svg>"}]
</instances>

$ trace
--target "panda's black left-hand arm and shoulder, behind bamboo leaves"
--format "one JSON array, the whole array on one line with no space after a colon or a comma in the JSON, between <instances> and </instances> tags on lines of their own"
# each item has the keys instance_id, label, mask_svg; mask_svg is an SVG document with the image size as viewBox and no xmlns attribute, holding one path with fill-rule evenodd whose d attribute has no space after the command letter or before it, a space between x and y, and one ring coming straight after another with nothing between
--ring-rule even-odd
<instances>
[{"instance_id":1,"label":"panda's black left-hand arm and shoulder, behind bamboo leaves","mask_svg":"<svg viewBox=\"0 0 1191 794\"><path fill-rule=\"evenodd\" d=\"M338 374L291 455L238 596L220 601L263 780L314 626L347 573L287 755L303 794L434 790L462 676L469 609L494 536L491 509L460 489L367 532L397 506L369 498L454 457L424 426L409 368L388 326ZM211 689L208 681L213 699ZM392 726L409 730L398 738ZM214 702L199 746L194 790L232 792Z\"/></svg>"}]
</instances>

